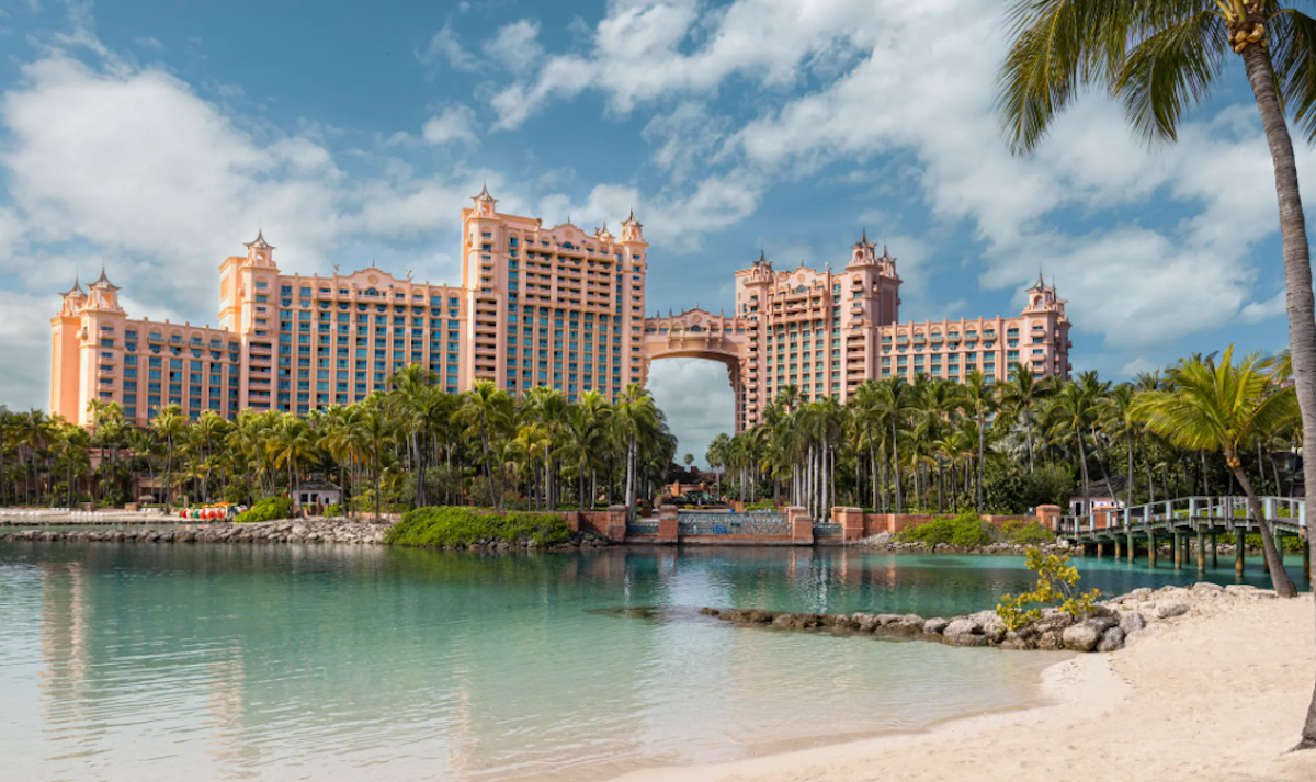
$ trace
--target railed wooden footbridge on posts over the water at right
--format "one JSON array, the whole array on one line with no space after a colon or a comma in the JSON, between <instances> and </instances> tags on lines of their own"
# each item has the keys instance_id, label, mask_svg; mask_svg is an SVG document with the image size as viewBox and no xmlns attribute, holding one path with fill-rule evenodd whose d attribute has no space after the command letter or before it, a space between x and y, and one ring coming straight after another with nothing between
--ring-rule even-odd
<instances>
[{"instance_id":1,"label":"railed wooden footbridge on posts over the water at right","mask_svg":"<svg viewBox=\"0 0 1316 782\"><path fill-rule=\"evenodd\" d=\"M1299 499L1261 498L1262 513L1271 523L1275 544L1284 538L1307 538L1307 504ZM1055 532L1079 546L1086 556L1098 557L1107 552L1116 558L1128 557L1133 562L1145 553L1150 566L1157 565L1158 549L1169 542L1174 552L1174 566L1184 567L1196 553L1198 570L1219 565L1221 538L1234 546L1234 570L1244 571L1246 546L1244 536L1258 534L1261 525L1248 512L1244 496L1187 496L1130 508L1098 509L1083 516L1059 516ZM1259 557L1262 569L1265 558ZM1309 548L1303 546L1303 573L1311 578Z\"/></svg>"}]
</instances>

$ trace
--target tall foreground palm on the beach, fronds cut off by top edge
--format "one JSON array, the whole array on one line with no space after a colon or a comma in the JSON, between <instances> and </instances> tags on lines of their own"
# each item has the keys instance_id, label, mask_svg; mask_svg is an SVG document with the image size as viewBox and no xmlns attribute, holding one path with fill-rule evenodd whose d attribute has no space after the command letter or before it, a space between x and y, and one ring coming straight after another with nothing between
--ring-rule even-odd
<instances>
[{"instance_id":1,"label":"tall foreground palm on the beach, fronds cut off by top edge","mask_svg":"<svg viewBox=\"0 0 1316 782\"><path fill-rule=\"evenodd\" d=\"M1099 87L1125 105L1146 140L1174 140L1179 120L1207 99L1230 51L1248 75L1275 170L1288 345L1303 438L1316 442L1316 299L1307 219L1286 111L1316 140L1316 18L1279 0L1013 0L1013 42L1001 66L999 111L1012 149L1037 147L1079 90ZM1311 5L1311 3L1303 3ZM1304 461L1316 486L1316 459ZM1316 541L1308 540L1316 548ZM1316 691L1302 749L1316 748Z\"/></svg>"}]
</instances>

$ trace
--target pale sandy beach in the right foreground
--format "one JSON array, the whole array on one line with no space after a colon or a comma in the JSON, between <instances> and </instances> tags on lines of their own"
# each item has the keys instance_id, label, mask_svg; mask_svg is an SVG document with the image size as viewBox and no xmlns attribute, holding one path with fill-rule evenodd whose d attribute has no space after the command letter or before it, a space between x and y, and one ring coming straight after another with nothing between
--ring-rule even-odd
<instances>
[{"instance_id":1,"label":"pale sandy beach in the right foreground","mask_svg":"<svg viewBox=\"0 0 1316 782\"><path fill-rule=\"evenodd\" d=\"M1121 652L1049 667L1042 682L1049 706L621 779L1316 781L1316 750L1288 753L1316 678L1311 595L1221 600L1140 636Z\"/></svg>"}]
</instances>

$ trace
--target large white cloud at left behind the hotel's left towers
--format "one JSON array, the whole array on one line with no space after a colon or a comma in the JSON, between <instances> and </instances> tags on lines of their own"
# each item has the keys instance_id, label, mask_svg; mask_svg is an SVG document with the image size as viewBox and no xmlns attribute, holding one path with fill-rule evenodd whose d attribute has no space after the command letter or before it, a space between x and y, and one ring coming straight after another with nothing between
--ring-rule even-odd
<instances>
[{"instance_id":1,"label":"large white cloud at left behind the hotel's left towers","mask_svg":"<svg viewBox=\"0 0 1316 782\"><path fill-rule=\"evenodd\" d=\"M343 245L380 240L425 257L455 244L453 216L482 179L500 180L463 163L421 176L359 150L346 154L375 172L347 178L313 129L243 126L174 75L112 58L96 67L51 53L22 66L0 124L0 273L7 301L26 308L7 319L5 348L37 367L3 380L8 400L45 402L53 291L78 269L87 279L104 263L134 317L211 320L199 313L215 312L216 266L258 225L290 271L324 270Z\"/></svg>"}]
</instances>

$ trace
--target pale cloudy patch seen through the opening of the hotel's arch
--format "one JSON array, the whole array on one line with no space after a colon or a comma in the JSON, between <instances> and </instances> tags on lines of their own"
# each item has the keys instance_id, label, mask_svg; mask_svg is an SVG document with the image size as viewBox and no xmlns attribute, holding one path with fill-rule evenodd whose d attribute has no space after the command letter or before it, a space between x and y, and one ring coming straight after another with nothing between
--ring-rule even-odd
<instances>
[{"instance_id":1,"label":"pale cloudy patch seen through the opening of the hotel's arch","mask_svg":"<svg viewBox=\"0 0 1316 782\"><path fill-rule=\"evenodd\" d=\"M708 466L708 444L734 420L726 367L716 361L665 358L649 366L649 390L676 434L676 462L694 454L695 465Z\"/></svg>"}]
</instances>

